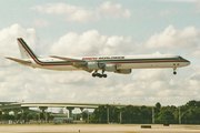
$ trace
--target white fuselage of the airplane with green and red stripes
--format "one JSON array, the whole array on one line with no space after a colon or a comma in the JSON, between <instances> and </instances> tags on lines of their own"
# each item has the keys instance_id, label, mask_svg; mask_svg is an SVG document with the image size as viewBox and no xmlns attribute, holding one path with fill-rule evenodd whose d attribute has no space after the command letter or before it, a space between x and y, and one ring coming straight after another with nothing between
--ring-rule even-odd
<instances>
[{"instance_id":1,"label":"white fuselage of the airplane with green and red stripes","mask_svg":"<svg viewBox=\"0 0 200 133\"><path fill-rule=\"evenodd\" d=\"M83 60L87 62L99 62L107 64L117 64L117 69L159 69L159 68L181 68L187 66L190 62L180 55L107 55L107 57L83 57L73 58L78 60ZM73 62L63 61L54 58L48 59L27 59L31 61L30 65L32 68L59 70L59 71L74 71L82 70L82 68L73 66Z\"/></svg>"}]
</instances>

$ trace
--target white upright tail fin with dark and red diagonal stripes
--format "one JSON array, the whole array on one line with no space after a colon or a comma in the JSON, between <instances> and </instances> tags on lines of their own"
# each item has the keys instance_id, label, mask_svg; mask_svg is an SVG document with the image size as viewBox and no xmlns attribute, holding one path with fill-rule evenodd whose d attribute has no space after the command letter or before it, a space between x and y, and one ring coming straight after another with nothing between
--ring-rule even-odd
<instances>
[{"instance_id":1,"label":"white upright tail fin with dark and red diagonal stripes","mask_svg":"<svg viewBox=\"0 0 200 133\"><path fill-rule=\"evenodd\" d=\"M31 58L36 58L37 59L37 55L28 47L28 44L23 41L22 38L18 38L17 41L18 41L18 45L19 45L22 59L31 59Z\"/></svg>"}]
</instances>

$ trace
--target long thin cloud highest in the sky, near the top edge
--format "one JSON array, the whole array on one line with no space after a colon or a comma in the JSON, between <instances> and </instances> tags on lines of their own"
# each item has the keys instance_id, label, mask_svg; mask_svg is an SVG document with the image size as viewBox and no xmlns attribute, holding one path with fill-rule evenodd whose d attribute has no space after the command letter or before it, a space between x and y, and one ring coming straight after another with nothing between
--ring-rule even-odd
<instances>
[{"instance_id":1,"label":"long thin cloud highest in the sky, near the top edge","mask_svg":"<svg viewBox=\"0 0 200 133\"><path fill-rule=\"evenodd\" d=\"M32 10L37 10L41 13L56 13L66 16L66 20L73 22L90 22L97 21L100 19L129 19L130 11L126 9L124 11L121 9L121 4L112 4L111 2L103 2L100 7L93 10L89 10L84 7L76 7L67 3L47 3L44 6L36 6L31 8Z\"/></svg>"}]
</instances>

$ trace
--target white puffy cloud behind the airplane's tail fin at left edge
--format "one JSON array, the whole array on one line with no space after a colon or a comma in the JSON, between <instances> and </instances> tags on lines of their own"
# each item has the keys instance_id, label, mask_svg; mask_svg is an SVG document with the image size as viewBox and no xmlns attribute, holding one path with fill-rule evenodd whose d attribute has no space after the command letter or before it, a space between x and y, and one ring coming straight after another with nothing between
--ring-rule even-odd
<instances>
[{"instance_id":1,"label":"white puffy cloud behind the airplane's tail fin at left edge","mask_svg":"<svg viewBox=\"0 0 200 133\"><path fill-rule=\"evenodd\" d=\"M38 35L34 29L23 29L19 24L12 24L0 31L0 64L7 64L4 55L20 57L18 51L17 38L23 38L30 42L31 48L34 50L38 44Z\"/></svg>"}]
</instances>

